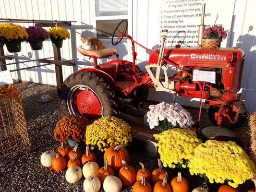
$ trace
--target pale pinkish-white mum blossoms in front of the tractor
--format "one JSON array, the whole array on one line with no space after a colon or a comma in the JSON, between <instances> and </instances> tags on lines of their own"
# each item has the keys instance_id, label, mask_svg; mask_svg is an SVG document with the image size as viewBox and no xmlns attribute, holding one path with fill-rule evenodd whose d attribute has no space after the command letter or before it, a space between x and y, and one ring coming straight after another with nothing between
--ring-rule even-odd
<instances>
[{"instance_id":1,"label":"pale pinkish-white mum blossoms in front of the tractor","mask_svg":"<svg viewBox=\"0 0 256 192\"><path fill-rule=\"evenodd\" d=\"M178 126L189 130L194 124L190 113L179 103L161 102L157 105L150 105L147 112L147 122L150 129L154 129L160 124L160 121L167 120L172 126Z\"/></svg>"}]
</instances>

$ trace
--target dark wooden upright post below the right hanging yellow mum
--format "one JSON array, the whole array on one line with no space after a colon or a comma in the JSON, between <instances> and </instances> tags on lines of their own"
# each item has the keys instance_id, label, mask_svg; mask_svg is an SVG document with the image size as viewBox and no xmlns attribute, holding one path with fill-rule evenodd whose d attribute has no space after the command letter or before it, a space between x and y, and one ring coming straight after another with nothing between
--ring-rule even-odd
<instances>
[{"instance_id":1,"label":"dark wooden upright post below the right hanging yellow mum","mask_svg":"<svg viewBox=\"0 0 256 192\"><path fill-rule=\"evenodd\" d=\"M54 60L61 60L61 48L53 47ZM56 74L56 83L57 83L57 93L60 95L61 85L63 83L63 74L62 74L62 66L55 64L55 74Z\"/></svg>"}]
</instances>

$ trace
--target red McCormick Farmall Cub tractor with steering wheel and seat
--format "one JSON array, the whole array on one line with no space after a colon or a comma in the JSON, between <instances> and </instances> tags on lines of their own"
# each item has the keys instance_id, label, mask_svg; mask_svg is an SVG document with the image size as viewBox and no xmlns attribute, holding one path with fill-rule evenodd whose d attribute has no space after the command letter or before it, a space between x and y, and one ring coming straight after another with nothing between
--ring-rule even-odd
<instances>
[{"instance_id":1,"label":"red McCormick Farmall Cub tractor with steering wheel and seat","mask_svg":"<svg viewBox=\"0 0 256 192\"><path fill-rule=\"evenodd\" d=\"M204 15L204 14L203 14ZM199 40L204 25L199 27ZM167 91L179 96L205 99L208 115L215 125L236 128L245 120L246 109L240 100L244 51L240 48L202 47L188 48L179 45L165 48L167 30L163 30L161 47L150 50L126 34L127 21L117 25L112 44L115 46L125 37L132 42L133 62L119 60L114 48L101 50L77 50L94 59L94 67L84 68L71 74L63 83L60 98L62 108L74 115L83 115L90 120L117 114L118 98L129 98L130 104L138 107L146 101L148 88ZM115 36L119 35L118 38ZM135 65L134 44L150 52L149 60L142 72ZM199 43L200 44L200 43ZM97 59L116 55L116 60L98 64ZM168 70L177 72L168 76ZM216 84L193 81L193 70L216 73ZM163 72L163 75L161 74Z\"/></svg>"}]
</instances>

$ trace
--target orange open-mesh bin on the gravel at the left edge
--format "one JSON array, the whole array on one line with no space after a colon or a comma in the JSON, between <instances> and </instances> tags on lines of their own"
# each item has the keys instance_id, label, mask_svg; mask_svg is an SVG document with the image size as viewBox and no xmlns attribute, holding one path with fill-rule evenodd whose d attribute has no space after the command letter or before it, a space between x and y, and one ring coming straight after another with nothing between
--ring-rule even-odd
<instances>
[{"instance_id":1,"label":"orange open-mesh bin on the gravel at the left edge","mask_svg":"<svg viewBox=\"0 0 256 192\"><path fill-rule=\"evenodd\" d=\"M20 91L0 94L0 158L30 149Z\"/></svg>"}]
</instances>

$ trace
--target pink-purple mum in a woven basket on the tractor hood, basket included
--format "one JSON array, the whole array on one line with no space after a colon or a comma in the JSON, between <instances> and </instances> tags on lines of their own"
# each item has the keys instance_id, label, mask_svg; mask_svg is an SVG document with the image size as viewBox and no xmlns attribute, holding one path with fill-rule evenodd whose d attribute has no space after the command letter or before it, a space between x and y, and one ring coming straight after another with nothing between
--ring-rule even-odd
<instances>
[{"instance_id":1,"label":"pink-purple mum in a woven basket on the tractor hood, basket included","mask_svg":"<svg viewBox=\"0 0 256 192\"><path fill-rule=\"evenodd\" d=\"M202 38L204 48L217 48L220 42L227 37L227 33L222 26L208 27L205 29Z\"/></svg>"}]
</instances>

